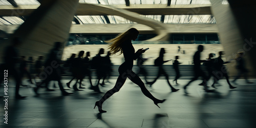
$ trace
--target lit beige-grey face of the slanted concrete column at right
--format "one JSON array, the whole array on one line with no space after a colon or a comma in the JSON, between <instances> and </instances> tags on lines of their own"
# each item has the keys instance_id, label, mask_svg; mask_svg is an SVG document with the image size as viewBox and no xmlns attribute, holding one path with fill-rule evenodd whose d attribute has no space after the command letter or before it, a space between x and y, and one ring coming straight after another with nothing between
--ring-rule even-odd
<instances>
[{"instance_id":1,"label":"lit beige-grey face of the slanted concrete column at right","mask_svg":"<svg viewBox=\"0 0 256 128\"><path fill-rule=\"evenodd\" d=\"M211 4L212 4L211 12L215 16L217 21L217 27L219 29L218 34L219 34L223 49L226 53L225 54L226 60L235 58L237 52L246 52L246 55L245 55L246 67L250 71L248 75L256 76L255 68L251 63L251 60L254 58L248 55L249 54L248 46L245 47L246 39L242 36L242 32L239 29L238 21L233 15L233 12L230 6L222 5L222 0L212 0ZM227 67L228 67L230 76L237 75L235 61L227 64Z\"/></svg>"}]
</instances>

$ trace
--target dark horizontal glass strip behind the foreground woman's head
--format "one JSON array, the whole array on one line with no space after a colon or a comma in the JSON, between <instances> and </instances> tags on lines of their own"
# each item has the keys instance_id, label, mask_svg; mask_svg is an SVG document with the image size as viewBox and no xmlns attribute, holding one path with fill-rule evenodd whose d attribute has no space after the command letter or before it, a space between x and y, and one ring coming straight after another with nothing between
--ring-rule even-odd
<instances>
[{"instance_id":1,"label":"dark horizontal glass strip behind the foreground woman's head","mask_svg":"<svg viewBox=\"0 0 256 128\"><path fill-rule=\"evenodd\" d=\"M69 45L103 45L106 44L104 40L115 38L117 34L82 34L72 33L69 37ZM140 34L138 38L133 41L134 44L220 44L217 33L214 34L171 34L167 41L145 41L155 37L155 34Z\"/></svg>"}]
</instances>

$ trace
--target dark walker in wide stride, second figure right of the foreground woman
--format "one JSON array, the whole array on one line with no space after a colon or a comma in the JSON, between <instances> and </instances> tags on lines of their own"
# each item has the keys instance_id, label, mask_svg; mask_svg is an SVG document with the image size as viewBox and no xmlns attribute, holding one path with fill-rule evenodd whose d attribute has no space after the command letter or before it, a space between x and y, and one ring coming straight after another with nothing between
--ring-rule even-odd
<instances>
[{"instance_id":1,"label":"dark walker in wide stride, second figure right of the foreground woman","mask_svg":"<svg viewBox=\"0 0 256 128\"><path fill-rule=\"evenodd\" d=\"M150 87L152 87L152 84L154 84L154 83L157 81L157 79L158 79L161 75L164 75L164 76L165 76L165 79L167 80L167 83L168 83L170 89L172 90L172 92L177 92L179 89L175 89L175 88L172 86L172 84L170 84L170 82L169 82L169 76L168 76L168 74L167 74L167 73L164 71L164 69L163 69L163 63L170 61L170 60L166 60L166 61L163 60L164 53L165 53L164 48L161 48L160 53L159 53L159 57L155 60L155 61L158 63L157 66L159 66L159 67L158 67L158 74L157 74L157 77L154 79L154 81L152 81L152 82L147 82L147 84L150 84Z\"/></svg>"}]
</instances>

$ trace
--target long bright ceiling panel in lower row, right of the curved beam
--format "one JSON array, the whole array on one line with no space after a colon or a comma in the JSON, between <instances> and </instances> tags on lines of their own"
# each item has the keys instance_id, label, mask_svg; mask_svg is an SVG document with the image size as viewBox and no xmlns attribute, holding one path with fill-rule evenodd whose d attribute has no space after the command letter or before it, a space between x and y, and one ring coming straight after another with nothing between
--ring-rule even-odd
<instances>
[{"instance_id":1,"label":"long bright ceiling panel in lower row, right of the curved beam","mask_svg":"<svg viewBox=\"0 0 256 128\"><path fill-rule=\"evenodd\" d=\"M164 23L216 24L216 19L212 15L165 15Z\"/></svg>"}]
</instances>

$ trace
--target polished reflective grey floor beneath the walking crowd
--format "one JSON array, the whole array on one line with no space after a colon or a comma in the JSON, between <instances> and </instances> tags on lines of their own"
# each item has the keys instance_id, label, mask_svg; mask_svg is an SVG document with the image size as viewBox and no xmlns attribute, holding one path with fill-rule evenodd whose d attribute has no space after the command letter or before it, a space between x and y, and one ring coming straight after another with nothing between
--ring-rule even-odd
<instances>
[{"instance_id":1,"label":"polished reflective grey floor beneath the walking crowd","mask_svg":"<svg viewBox=\"0 0 256 128\"><path fill-rule=\"evenodd\" d=\"M110 81L114 83L115 79ZM21 87L20 94L27 98L16 100L14 83L10 81L8 124L3 119L6 110L2 97L0 127L256 127L256 79L250 81L254 83L245 84L239 79L235 85L238 88L230 90L226 81L220 80L215 92L206 93L197 80L185 95L182 87L188 80L179 80L180 85L174 87L181 90L170 92L166 80L159 79L152 88L147 87L155 97L166 99L159 104L159 109L138 86L127 80L118 93L104 102L103 110L108 112L102 114L93 107L104 93L84 89L61 96L57 88L54 92L42 88L38 91L40 95L35 96L32 88ZM83 83L87 88L87 81ZM113 84L108 83L100 89L106 92L112 87ZM3 86L0 91L3 96Z\"/></svg>"}]
</instances>

